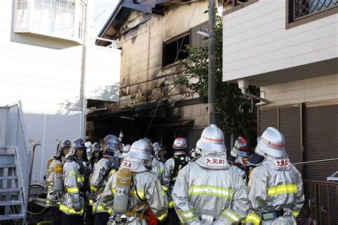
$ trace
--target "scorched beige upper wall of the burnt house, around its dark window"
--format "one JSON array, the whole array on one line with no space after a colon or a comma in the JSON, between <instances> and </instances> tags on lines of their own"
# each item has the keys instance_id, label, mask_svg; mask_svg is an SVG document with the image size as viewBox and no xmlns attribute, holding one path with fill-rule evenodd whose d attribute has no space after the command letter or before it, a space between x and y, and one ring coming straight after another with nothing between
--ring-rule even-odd
<instances>
[{"instance_id":1,"label":"scorched beige upper wall of the burnt house, around its dark window","mask_svg":"<svg viewBox=\"0 0 338 225\"><path fill-rule=\"evenodd\" d=\"M165 80L170 82L165 92L173 88L165 96L169 102L198 97L180 85L174 88L175 81L183 75L182 68L178 63L162 68L162 48L163 41L168 41L207 21L208 14L204 14L207 9L207 1L180 4L166 9L165 16L152 14L150 19L141 25L129 31L123 30L123 34L117 38L122 47L120 107L157 100L163 91ZM128 23L134 24L143 20L144 15L139 11L133 11L126 19ZM204 117L203 121L201 118L195 120L195 126L203 127L204 120L208 121L208 117L205 116L205 105L203 105L205 112L201 112L200 105L196 107L198 107L196 112L200 112L198 116ZM186 118L190 112L189 109L180 115Z\"/></svg>"}]
</instances>

